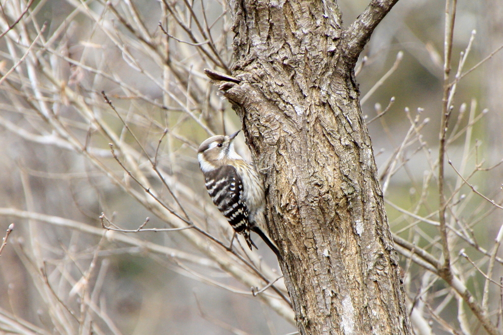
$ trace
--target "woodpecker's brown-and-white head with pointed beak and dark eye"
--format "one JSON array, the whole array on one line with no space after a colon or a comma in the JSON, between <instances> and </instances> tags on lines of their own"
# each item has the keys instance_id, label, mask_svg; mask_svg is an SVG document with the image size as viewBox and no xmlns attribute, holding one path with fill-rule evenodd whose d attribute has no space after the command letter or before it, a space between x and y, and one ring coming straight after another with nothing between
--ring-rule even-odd
<instances>
[{"instance_id":1,"label":"woodpecker's brown-and-white head with pointed beak and dark eye","mask_svg":"<svg viewBox=\"0 0 503 335\"><path fill-rule=\"evenodd\" d=\"M242 159L234 150L233 140L238 133L239 130L229 136L212 136L201 143L197 150L197 158L203 172L218 169L228 164L229 159Z\"/></svg>"}]
</instances>

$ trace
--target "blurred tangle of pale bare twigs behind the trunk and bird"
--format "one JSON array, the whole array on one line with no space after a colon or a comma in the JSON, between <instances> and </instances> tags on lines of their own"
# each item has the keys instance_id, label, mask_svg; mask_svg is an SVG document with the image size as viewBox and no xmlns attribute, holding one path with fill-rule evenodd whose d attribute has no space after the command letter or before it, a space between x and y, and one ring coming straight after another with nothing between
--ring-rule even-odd
<instances>
[{"instance_id":1,"label":"blurred tangle of pale bare twigs behind the trunk and bird","mask_svg":"<svg viewBox=\"0 0 503 335\"><path fill-rule=\"evenodd\" d=\"M368 1L339 4L349 26ZM471 39L460 73L503 45L500 5L458 2L451 81ZM390 227L436 257L444 15L443 2L400 0L357 64ZM295 332L257 236L258 252L236 247L243 262L184 229L231 237L196 157L205 138L240 129L203 72L231 68L231 25L218 0L2 1L0 234L15 230L0 257L0 334ZM499 52L457 84L446 167L453 263L499 329L503 215L459 175L501 205L502 105ZM249 159L242 135L237 147ZM442 280L401 261L416 333L485 333ZM250 290L278 278L277 291Z\"/></svg>"}]
</instances>

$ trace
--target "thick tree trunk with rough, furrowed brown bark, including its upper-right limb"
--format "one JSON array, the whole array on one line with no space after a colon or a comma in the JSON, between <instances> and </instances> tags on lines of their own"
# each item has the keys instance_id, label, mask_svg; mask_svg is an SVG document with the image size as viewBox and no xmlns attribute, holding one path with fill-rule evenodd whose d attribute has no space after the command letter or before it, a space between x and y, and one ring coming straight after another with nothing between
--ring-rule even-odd
<instances>
[{"instance_id":1,"label":"thick tree trunk with rough, furrowed brown bark, including its upper-right limb","mask_svg":"<svg viewBox=\"0 0 503 335\"><path fill-rule=\"evenodd\" d=\"M231 0L232 77L208 71L263 173L301 334L411 334L354 66L397 0Z\"/></svg>"}]
</instances>

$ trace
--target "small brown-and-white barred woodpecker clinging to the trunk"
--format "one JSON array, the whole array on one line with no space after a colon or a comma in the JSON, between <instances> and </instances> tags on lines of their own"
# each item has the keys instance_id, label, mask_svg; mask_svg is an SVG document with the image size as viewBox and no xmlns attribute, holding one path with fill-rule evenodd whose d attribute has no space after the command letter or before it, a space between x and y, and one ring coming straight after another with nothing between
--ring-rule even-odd
<instances>
[{"instance_id":1,"label":"small brown-and-white barred woodpecker clinging to the trunk","mask_svg":"<svg viewBox=\"0 0 503 335\"><path fill-rule=\"evenodd\" d=\"M250 237L250 231L254 231L281 259L268 235L265 192L259 173L234 150L233 140L238 133L212 136L199 146L197 158L206 189L234 231L244 236L250 250L252 245L257 248Z\"/></svg>"}]
</instances>

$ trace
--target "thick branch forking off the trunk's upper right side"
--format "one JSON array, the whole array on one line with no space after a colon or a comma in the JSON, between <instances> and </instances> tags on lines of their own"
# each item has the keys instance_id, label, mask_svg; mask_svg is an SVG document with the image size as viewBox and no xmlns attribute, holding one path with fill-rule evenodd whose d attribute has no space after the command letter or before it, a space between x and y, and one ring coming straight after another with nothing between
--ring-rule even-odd
<instances>
[{"instance_id":1,"label":"thick branch forking off the trunk's upper right side","mask_svg":"<svg viewBox=\"0 0 503 335\"><path fill-rule=\"evenodd\" d=\"M365 11L346 29L343 50L346 58L356 62L374 29L397 2L398 0L371 1Z\"/></svg>"}]
</instances>

